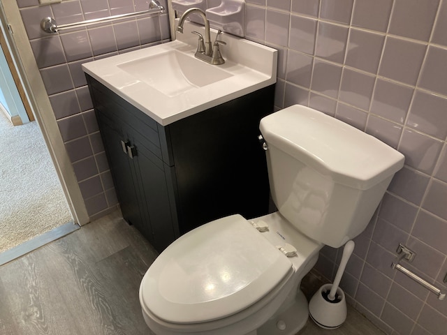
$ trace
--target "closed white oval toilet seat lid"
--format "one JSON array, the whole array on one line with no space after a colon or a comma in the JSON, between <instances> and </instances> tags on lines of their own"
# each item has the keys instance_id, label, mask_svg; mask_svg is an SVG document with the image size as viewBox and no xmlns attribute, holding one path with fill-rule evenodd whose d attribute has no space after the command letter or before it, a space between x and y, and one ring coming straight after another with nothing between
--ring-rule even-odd
<instances>
[{"instance_id":1,"label":"closed white oval toilet seat lid","mask_svg":"<svg viewBox=\"0 0 447 335\"><path fill-rule=\"evenodd\" d=\"M171 323L224 318L264 297L292 264L240 215L179 237L149 267L142 304Z\"/></svg>"}]
</instances>

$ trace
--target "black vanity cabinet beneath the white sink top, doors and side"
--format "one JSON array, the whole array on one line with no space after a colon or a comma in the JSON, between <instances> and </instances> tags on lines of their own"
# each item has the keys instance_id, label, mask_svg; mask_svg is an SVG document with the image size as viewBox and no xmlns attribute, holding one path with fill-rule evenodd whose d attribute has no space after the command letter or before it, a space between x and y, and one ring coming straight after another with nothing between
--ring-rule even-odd
<instances>
[{"instance_id":1,"label":"black vanity cabinet beneath the white sink top, doors and side","mask_svg":"<svg viewBox=\"0 0 447 335\"><path fill-rule=\"evenodd\" d=\"M157 251L216 218L268 213L262 117L274 85L161 126L87 75L122 214Z\"/></svg>"}]
</instances>

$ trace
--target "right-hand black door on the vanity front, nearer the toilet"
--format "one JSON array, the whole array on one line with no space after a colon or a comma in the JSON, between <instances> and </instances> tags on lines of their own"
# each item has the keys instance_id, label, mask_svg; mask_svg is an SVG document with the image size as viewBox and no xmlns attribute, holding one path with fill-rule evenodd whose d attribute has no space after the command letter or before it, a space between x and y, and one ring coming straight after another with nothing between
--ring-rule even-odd
<instances>
[{"instance_id":1,"label":"right-hand black door on the vanity front, nearer the toilet","mask_svg":"<svg viewBox=\"0 0 447 335\"><path fill-rule=\"evenodd\" d=\"M135 143L133 158L137 185L144 202L146 229L152 230L152 245L163 251L175 239L165 165L152 151Z\"/></svg>"}]
</instances>

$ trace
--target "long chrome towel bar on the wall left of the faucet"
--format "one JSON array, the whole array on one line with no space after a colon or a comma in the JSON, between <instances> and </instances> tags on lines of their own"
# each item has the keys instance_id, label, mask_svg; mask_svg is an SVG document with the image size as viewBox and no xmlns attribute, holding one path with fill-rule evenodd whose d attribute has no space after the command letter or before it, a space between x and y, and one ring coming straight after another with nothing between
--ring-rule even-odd
<instances>
[{"instance_id":1,"label":"long chrome towel bar on the wall left of the faucet","mask_svg":"<svg viewBox=\"0 0 447 335\"><path fill-rule=\"evenodd\" d=\"M78 27L86 27L91 24L121 20L126 17L133 17L133 16L147 15L147 14L159 14L159 13L165 13L165 12L166 12L165 8L163 6L161 6L159 1L152 0L149 2L148 10L141 10L139 12L112 15L112 16L108 16L108 17L100 17L98 19L91 19L91 20L85 20L85 21L68 23L68 24L61 24L60 26L57 25L56 20L54 20L54 18L45 17L41 21L41 29L43 31L45 31L45 33L54 34L54 33L57 33L57 31L61 31L61 30L78 28Z\"/></svg>"}]
</instances>

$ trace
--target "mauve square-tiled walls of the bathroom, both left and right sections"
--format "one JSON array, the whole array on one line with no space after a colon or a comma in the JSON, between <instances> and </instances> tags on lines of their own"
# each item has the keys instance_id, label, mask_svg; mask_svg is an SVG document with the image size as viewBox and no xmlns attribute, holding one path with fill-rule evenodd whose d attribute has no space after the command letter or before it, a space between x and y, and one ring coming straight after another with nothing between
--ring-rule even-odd
<instances>
[{"instance_id":1,"label":"mauve square-tiled walls of the bathroom, both left and right sections","mask_svg":"<svg viewBox=\"0 0 447 335\"><path fill-rule=\"evenodd\" d=\"M89 215L101 216L117 200L80 64L168 40L168 17L47 36L42 17L63 24L146 1L17 3ZM406 266L447 288L447 0L247 0L246 24L247 38L279 50L277 109L314 107L406 156L356 238L342 288L386 334L445 335L447 301L390 264L406 244L417 253ZM324 248L316 273L332 279L341 253Z\"/></svg>"}]
</instances>

